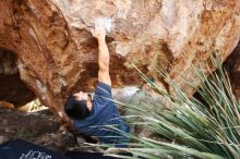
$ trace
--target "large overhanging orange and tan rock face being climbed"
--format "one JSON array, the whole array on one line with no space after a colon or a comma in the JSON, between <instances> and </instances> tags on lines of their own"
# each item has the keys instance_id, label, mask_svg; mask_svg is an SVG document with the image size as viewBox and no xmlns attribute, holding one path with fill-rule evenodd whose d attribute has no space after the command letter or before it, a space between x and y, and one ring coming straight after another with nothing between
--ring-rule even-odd
<instances>
[{"instance_id":1,"label":"large overhanging orange and tan rock face being climbed","mask_svg":"<svg viewBox=\"0 0 240 159\"><path fill-rule=\"evenodd\" d=\"M98 17L108 30L113 87L142 83L132 62L151 76L167 71L192 94L181 80L197 85L191 64L213 50L225 60L240 37L239 0L5 0L0 17L0 48L17 54L21 78L60 117L70 93L97 82L89 29Z\"/></svg>"}]
</instances>

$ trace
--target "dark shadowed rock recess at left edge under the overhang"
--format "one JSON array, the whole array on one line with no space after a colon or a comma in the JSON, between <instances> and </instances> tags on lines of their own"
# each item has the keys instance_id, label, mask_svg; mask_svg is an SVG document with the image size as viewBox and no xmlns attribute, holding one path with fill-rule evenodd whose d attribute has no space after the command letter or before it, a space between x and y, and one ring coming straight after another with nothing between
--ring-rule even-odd
<instances>
[{"instance_id":1,"label":"dark shadowed rock recess at left edge under the overhang","mask_svg":"<svg viewBox=\"0 0 240 159\"><path fill-rule=\"evenodd\" d=\"M16 54L0 49L0 100L11 102L17 108L34 98L34 93L20 78Z\"/></svg>"}]
</instances>

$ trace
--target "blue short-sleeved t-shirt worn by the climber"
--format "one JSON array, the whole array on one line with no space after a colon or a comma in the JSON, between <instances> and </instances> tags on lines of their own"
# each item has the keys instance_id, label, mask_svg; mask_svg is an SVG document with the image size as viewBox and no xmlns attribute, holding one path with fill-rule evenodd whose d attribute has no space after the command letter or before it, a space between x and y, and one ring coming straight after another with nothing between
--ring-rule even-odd
<instances>
[{"instance_id":1,"label":"blue short-sleeved t-shirt worn by the climber","mask_svg":"<svg viewBox=\"0 0 240 159\"><path fill-rule=\"evenodd\" d=\"M74 121L74 125L82 133L95 136L105 144L119 144L116 147L124 147L122 144L128 143L128 138L120 132L106 127L106 125L112 125L122 132L130 131L112 101L111 87L101 82L96 86L89 115L82 121Z\"/></svg>"}]
</instances>

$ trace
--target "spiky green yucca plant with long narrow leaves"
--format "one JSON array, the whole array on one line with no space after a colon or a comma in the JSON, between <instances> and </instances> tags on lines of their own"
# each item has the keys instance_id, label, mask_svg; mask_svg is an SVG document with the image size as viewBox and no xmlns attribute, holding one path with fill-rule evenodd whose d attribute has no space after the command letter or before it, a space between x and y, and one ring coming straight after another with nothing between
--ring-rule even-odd
<instances>
[{"instance_id":1,"label":"spiky green yucca plant with long narrow leaves","mask_svg":"<svg viewBox=\"0 0 240 159\"><path fill-rule=\"evenodd\" d=\"M201 100L194 97L189 98L170 80L169 85L175 89L175 96L163 93L136 69L163 98L171 99L169 102L173 109L158 111L158 107L165 103L147 105L144 108L125 105L134 112L133 114L139 114L139 118L143 120L132 124L143 124L156 134L168 138L168 142L123 133L131 138L131 144L134 146L118 150L151 159L168 158L169 156L173 158L240 159L240 106L232 94L229 78L221 63L212 58L212 64L217 71L209 77L205 75L202 68L194 68L195 76L201 82L201 88L192 87L199 93ZM209 68L205 68L205 70L211 71ZM107 154L111 154L111 150L108 150ZM117 154L113 156L134 158Z\"/></svg>"}]
</instances>

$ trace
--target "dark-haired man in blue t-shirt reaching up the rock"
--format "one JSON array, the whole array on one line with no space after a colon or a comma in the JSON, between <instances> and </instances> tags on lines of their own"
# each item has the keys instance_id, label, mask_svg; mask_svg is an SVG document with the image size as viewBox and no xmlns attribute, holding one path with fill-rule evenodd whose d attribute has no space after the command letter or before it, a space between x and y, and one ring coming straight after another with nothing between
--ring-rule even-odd
<instances>
[{"instance_id":1,"label":"dark-haired man in blue t-shirt reaching up the rock","mask_svg":"<svg viewBox=\"0 0 240 159\"><path fill-rule=\"evenodd\" d=\"M130 131L123 122L119 110L112 101L111 78L109 75L109 50L106 45L106 29L100 23L95 23L92 35L98 40L98 83L95 95L75 93L69 96L64 111L73 120L74 126L81 133L94 136L104 144L125 147L128 137L122 135ZM111 125L111 126L109 126ZM119 131L113 131L117 127Z\"/></svg>"}]
</instances>

